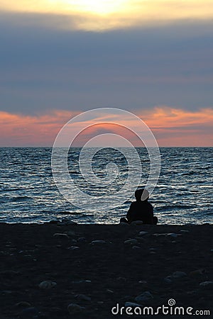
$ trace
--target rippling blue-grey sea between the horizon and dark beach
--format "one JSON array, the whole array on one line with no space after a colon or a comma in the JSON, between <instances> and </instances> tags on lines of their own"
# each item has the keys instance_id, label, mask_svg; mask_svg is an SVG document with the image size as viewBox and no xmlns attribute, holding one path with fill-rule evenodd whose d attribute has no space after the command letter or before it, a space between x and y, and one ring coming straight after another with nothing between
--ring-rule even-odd
<instances>
[{"instance_id":1,"label":"rippling blue-grey sea between the horizon and dark beach","mask_svg":"<svg viewBox=\"0 0 213 319\"><path fill-rule=\"evenodd\" d=\"M78 164L81 150L72 147L67 161L70 178L87 194L91 193L92 181L88 183L81 177ZM136 147L136 151L143 167L139 186L146 186L150 172L148 152L146 147ZM119 223L126 216L134 200L132 191L124 203L109 211L87 211L67 201L53 179L51 154L51 147L0 147L1 223L64 219L77 223ZM106 177L104 167L111 162L120 174L116 183L107 186L106 194L116 194L129 172L123 153L107 147L94 156L94 174ZM160 147L160 176L149 198L160 224L212 223L212 164L213 147ZM104 186L94 186L94 205L102 191Z\"/></svg>"}]
</instances>

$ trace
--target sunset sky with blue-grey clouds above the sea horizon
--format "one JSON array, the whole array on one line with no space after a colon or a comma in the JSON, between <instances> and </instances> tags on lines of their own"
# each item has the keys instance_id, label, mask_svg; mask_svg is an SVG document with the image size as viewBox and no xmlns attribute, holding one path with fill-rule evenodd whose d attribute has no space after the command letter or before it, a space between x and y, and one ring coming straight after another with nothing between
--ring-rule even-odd
<instances>
[{"instance_id":1,"label":"sunset sky with blue-grey clouds above the sea horizon","mask_svg":"<svg viewBox=\"0 0 213 319\"><path fill-rule=\"evenodd\" d=\"M213 0L0 0L0 146L51 146L109 107L160 146L213 146L212 27Z\"/></svg>"}]
</instances>

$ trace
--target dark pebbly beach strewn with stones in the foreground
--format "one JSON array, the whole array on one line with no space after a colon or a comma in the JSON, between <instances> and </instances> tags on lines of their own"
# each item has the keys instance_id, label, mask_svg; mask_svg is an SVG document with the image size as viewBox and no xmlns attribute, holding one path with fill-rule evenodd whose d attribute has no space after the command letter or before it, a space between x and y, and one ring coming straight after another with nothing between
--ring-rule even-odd
<instances>
[{"instance_id":1,"label":"dark pebbly beach strewn with stones in the foreground","mask_svg":"<svg viewBox=\"0 0 213 319\"><path fill-rule=\"evenodd\" d=\"M212 313L212 284L201 284L213 280L212 230L207 224L0 223L0 318L190 318L160 310L137 315L137 308L134 315L111 314L116 303L119 309L131 302L156 311L170 299L170 311L182 306L192 307L192 314ZM137 242L124 243L129 239ZM77 306L68 309L70 303Z\"/></svg>"}]
</instances>

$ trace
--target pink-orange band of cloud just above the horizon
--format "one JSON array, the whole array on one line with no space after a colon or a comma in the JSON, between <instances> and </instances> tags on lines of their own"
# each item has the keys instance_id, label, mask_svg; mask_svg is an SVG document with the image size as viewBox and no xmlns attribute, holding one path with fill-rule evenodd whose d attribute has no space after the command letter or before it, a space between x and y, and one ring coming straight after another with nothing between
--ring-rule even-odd
<instances>
[{"instance_id":1,"label":"pink-orange band of cloud just above the horizon","mask_svg":"<svg viewBox=\"0 0 213 319\"><path fill-rule=\"evenodd\" d=\"M52 111L38 116L24 116L0 112L1 146L52 146L62 125L67 123L78 111ZM178 108L158 107L137 112L137 115L153 131L160 146L213 146L213 109L186 111ZM78 136L75 145L84 145L89 138L102 133L120 134L133 145L142 146L134 133L121 125L106 123L109 114L102 117L103 124L92 125ZM104 123L105 122L105 123ZM119 123L119 121L116 121ZM129 121L122 121L129 127ZM75 123L81 127L82 123Z\"/></svg>"}]
</instances>

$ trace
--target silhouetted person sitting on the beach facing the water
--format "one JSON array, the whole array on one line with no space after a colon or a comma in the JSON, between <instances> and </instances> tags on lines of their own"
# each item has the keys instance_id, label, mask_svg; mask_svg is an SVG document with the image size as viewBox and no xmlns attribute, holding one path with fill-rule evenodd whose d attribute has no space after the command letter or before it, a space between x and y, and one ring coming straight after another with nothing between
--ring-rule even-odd
<instances>
[{"instance_id":1,"label":"silhouetted person sitting on the beach facing the water","mask_svg":"<svg viewBox=\"0 0 213 319\"><path fill-rule=\"evenodd\" d=\"M146 189L137 189L135 192L136 201L131 203L126 218L121 218L121 223L132 223L136 220L142 220L143 224L156 225L158 218L153 216L153 206L148 202L148 191Z\"/></svg>"}]
</instances>

